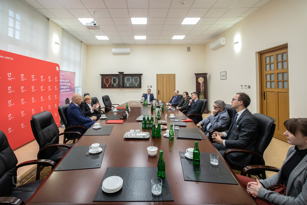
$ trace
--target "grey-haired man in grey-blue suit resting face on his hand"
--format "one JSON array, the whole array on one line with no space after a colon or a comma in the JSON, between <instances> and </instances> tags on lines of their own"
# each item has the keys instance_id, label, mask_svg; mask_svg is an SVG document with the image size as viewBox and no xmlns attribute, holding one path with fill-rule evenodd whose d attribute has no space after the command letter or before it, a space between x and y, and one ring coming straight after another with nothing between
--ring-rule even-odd
<instances>
[{"instance_id":1,"label":"grey-haired man in grey-blue suit resting face on his hand","mask_svg":"<svg viewBox=\"0 0 307 205\"><path fill-rule=\"evenodd\" d=\"M196 124L207 137L209 137L210 130L227 128L230 117L225 107L224 101L215 101L210 116ZM202 125L204 125L204 128L201 128Z\"/></svg>"}]
</instances>

